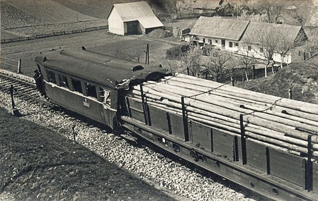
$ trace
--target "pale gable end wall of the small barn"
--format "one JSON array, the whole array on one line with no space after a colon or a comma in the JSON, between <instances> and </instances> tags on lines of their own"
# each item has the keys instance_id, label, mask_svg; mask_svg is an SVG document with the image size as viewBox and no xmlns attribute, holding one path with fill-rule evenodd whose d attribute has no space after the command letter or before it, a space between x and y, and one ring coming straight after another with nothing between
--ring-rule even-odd
<instances>
[{"instance_id":1,"label":"pale gable end wall of the small barn","mask_svg":"<svg viewBox=\"0 0 318 201\"><path fill-rule=\"evenodd\" d=\"M114 7L108 17L108 30L111 33L125 35L127 33L127 25L124 27L123 20L120 18L118 11Z\"/></svg>"}]
</instances>

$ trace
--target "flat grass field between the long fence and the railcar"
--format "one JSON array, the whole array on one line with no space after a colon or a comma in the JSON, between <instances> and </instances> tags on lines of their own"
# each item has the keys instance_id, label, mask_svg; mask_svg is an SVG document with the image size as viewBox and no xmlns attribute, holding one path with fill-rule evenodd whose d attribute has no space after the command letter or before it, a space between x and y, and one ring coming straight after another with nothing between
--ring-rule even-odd
<instances>
[{"instance_id":1,"label":"flat grass field between the long fence and the railcar","mask_svg":"<svg viewBox=\"0 0 318 201\"><path fill-rule=\"evenodd\" d=\"M22 72L27 76L33 76L36 69L35 56L40 52L45 53L59 47L80 50L85 46L87 50L118 56L117 50L129 54L141 54L144 58L145 44L150 44L150 63L166 64L166 50L178 42L166 41L163 39L147 38L139 36L115 36L108 34L105 30L71 34L64 36L49 37L33 41L22 41L9 44L1 44L1 55L10 59L22 59ZM141 60L144 62L144 59ZM16 71L15 67L1 64L2 69Z\"/></svg>"}]
</instances>

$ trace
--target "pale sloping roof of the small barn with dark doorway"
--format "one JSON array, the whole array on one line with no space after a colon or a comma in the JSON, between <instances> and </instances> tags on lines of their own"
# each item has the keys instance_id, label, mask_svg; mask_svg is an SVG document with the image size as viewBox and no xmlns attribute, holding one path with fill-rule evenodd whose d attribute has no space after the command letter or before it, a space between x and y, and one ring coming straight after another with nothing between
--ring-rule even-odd
<instances>
[{"instance_id":1,"label":"pale sloping roof of the small barn with dark doorway","mask_svg":"<svg viewBox=\"0 0 318 201\"><path fill-rule=\"evenodd\" d=\"M147 1L113 4L107 19L113 9L116 9L123 22L136 21L145 28L162 27L163 24L157 18Z\"/></svg>"}]
</instances>

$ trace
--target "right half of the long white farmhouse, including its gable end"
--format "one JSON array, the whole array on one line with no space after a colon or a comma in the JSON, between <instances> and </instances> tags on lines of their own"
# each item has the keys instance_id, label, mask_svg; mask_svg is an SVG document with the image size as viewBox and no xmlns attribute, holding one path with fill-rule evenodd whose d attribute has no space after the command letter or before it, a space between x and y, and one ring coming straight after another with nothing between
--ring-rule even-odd
<instances>
[{"instance_id":1,"label":"right half of the long white farmhouse, including its gable end","mask_svg":"<svg viewBox=\"0 0 318 201\"><path fill-rule=\"evenodd\" d=\"M274 61L288 64L300 62L304 60L302 45L304 45L304 41L306 40L307 36L302 26L250 22L241 38L239 53L246 54L247 48L250 55L262 58L264 55L262 51L264 52L264 50L272 48L276 49L273 54ZM279 46L285 46L281 47L285 48L286 51L284 57L278 52L280 49Z\"/></svg>"}]
</instances>

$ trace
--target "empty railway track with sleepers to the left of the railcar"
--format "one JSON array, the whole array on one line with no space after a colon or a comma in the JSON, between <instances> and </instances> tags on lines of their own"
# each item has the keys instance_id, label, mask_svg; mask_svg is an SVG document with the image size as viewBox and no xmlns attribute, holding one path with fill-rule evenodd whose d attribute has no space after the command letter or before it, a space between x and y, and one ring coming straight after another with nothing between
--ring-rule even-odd
<instances>
[{"instance_id":1,"label":"empty railway track with sleepers to the left of the railcar","mask_svg":"<svg viewBox=\"0 0 318 201\"><path fill-rule=\"evenodd\" d=\"M0 90L10 93L11 86L14 89L14 97L39 102L47 106L56 106L41 96L35 84L0 73Z\"/></svg>"}]
</instances>

